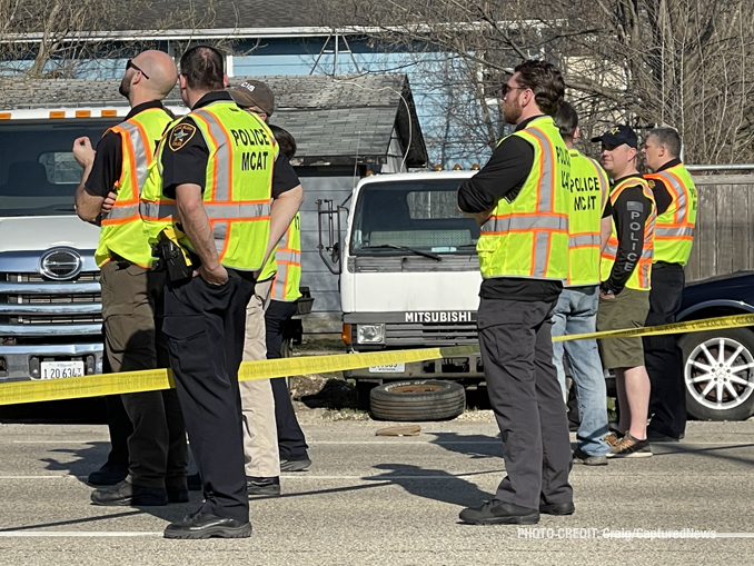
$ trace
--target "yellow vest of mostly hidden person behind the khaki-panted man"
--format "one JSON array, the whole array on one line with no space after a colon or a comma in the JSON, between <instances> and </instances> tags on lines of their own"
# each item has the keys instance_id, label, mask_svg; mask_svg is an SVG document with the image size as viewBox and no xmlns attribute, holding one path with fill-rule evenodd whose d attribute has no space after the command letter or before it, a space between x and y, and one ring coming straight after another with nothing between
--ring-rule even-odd
<instances>
[{"instance_id":1,"label":"yellow vest of mostly hidden person behind the khaki-panted man","mask_svg":"<svg viewBox=\"0 0 754 566\"><path fill-rule=\"evenodd\" d=\"M301 296L301 217L296 212L294 220L282 235L277 247L267 259L259 274L259 280L275 277L270 298L284 302L295 302Z\"/></svg>"}]
</instances>

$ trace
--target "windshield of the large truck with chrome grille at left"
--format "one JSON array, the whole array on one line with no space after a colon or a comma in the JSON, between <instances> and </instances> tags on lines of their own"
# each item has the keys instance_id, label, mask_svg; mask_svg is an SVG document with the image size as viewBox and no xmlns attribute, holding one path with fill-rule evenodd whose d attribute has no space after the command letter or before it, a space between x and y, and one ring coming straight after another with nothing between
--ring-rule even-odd
<instances>
[{"instance_id":1,"label":"windshield of the large truck with chrome grille at left","mask_svg":"<svg viewBox=\"0 0 754 566\"><path fill-rule=\"evenodd\" d=\"M73 140L92 146L118 120L0 121L0 217L72 215L81 168Z\"/></svg>"}]
</instances>

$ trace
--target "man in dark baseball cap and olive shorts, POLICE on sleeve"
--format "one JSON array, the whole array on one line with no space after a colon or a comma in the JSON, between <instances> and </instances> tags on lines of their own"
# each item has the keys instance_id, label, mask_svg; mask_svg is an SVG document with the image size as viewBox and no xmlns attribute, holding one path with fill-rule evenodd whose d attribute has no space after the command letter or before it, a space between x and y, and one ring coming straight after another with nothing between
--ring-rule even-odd
<instances>
[{"instance_id":1,"label":"man in dark baseball cap and olive shorts, POLICE on sleeve","mask_svg":"<svg viewBox=\"0 0 754 566\"><path fill-rule=\"evenodd\" d=\"M616 126L592 138L602 143L601 161L613 180L604 218L612 234L599 274L597 330L638 328L649 311L649 277L657 210L654 195L636 169L638 139L628 126ZM615 370L621 416L617 435L605 438L608 458L652 456L646 436L649 376L641 338L599 340L603 365Z\"/></svg>"}]
</instances>

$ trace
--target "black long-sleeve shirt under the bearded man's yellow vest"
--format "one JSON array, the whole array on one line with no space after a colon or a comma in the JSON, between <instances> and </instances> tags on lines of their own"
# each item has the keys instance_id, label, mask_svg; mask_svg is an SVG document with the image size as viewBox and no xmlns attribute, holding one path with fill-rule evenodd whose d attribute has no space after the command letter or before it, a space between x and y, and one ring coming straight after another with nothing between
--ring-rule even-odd
<instances>
[{"instance_id":1,"label":"black long-sleeve shirt under the bearded man's yellow vest","mask_svg":"<svg viewBox=\"0 0 754 566\"><path fill-rule=\"evenodd\" d=\"M516 127L523 130L535 116ZM518 136L508 136L500 142L482 170L458 188L458 208L477 214L489 210L502 198L513 202L520 192L534 165L534 148ZM542 300L557 299L563 285L556 280L494 277L485 279L479 289L484 299Z\"/></svg>"}]
</instances>

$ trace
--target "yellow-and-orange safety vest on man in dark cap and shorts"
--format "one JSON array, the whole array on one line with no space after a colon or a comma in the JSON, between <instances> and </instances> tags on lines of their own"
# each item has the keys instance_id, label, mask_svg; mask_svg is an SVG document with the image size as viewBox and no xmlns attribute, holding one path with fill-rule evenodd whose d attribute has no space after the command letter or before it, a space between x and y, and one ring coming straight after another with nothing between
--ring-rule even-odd
<instances>
[{"instance_id":1,"label":"yellow-and-orange safety vest on man in dark cap and shorts","mask_svg":"<svg viewBox=\"0 0 754 566\"><path fill-rule=\"evenodd\" d=\"M644 225L644 246L642 248L642 257L636 261L634 272L631 274L626 287L637 290L649 290L652 276L652 258L654 256L654 239L655 239L655 221L657 219L657 207L655 206L655 198L649 189L647 181L639 177L631 177L617 183L611 190L611 203L615 206L615 201L621 193L628 187L641 186L644 196L652 202L652 212ZM618 236L615 229L615 219L613 219L613 234L607 240L605 251L602 254L602 261L599 265L601 280L609 279L615 258L618 252Z\"/></svg>"}]
</instances>

